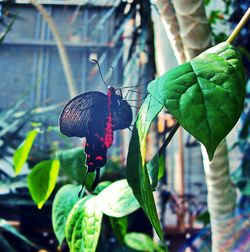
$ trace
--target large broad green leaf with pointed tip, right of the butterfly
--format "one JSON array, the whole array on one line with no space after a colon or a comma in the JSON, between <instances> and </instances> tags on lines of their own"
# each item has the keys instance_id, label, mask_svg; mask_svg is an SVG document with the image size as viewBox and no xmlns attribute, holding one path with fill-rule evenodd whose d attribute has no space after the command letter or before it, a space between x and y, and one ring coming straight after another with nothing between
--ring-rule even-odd
<instances>
[{"instance_id":1,"label":"large broad green leaf with pointed tip, right of the butterfly","mask_svg":"<svg viewBox=\"0 0 250 252\"><path fill-rule=\"evenodd\" d=\"M211 160L239 119L245 85L240 56L224 42L155 79L148 91L205 145Z\"/></svg>"}]
</instances>

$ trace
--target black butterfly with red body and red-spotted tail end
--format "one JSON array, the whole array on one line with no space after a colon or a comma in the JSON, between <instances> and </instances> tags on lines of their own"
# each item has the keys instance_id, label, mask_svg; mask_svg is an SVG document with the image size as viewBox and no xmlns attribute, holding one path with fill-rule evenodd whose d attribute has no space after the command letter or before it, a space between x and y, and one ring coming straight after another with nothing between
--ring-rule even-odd
<instances>
[{"instance_id":1,"label":"black butterfly with red body and red-spotted tail end","mask_svg":"<svg viewBox=\"0 0 250 252\"><path fill-rule=\"evenodd\" d=\"M59 118L61 133L68 137L86 138L87 173L96 171L92 188L98 182L100 168L106 164L114 131L129 128L131 122L132 109L123 99L121 89L109 85L107 94L86 92L74 97L63 108Z\"/></svg>"}]
</instances>

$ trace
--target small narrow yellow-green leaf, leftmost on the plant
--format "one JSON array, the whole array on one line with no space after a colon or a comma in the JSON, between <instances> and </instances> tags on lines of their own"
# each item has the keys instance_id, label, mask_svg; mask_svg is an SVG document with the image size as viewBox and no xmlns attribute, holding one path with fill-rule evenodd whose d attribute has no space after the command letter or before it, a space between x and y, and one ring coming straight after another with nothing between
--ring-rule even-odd
<instances>
[{"instance_id":1,"label":"small narrow yellow-green leaf, leftmost on the plant","mask_svg":"<svg viewBox=\"0 0 250 252\"><path fill-rule=\"evenodd\" d=\"M14 169L15 169L15 174L19 174L21 169L23 168L23 165L25 164L31 147L33 145L33 142L37 136L37 130L32 130L30 131L23 143L17 148L17 150L14 153L13 156L13 162L14 162Z\"/></svg>"}]
</instances>

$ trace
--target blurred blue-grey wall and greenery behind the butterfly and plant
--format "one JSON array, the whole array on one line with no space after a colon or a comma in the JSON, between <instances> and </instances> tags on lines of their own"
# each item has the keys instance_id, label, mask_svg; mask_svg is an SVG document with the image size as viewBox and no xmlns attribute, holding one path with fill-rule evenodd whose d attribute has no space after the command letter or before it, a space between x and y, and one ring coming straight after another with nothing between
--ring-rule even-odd
<instances>
[{"instance_id":1,"label":"blurred blue-grey wall and greenery behind the butterfly and plant","mask_svg":"<svg viewBox=\"0 0 250 252\"><path fill-rule=\"evenodd\" d=\"M66 245L64 250L58 248L51 224L51 207L56 191L72 178L67 176L67 171L60 170L55 190L41 210L32 201L27 184L27 176L36 164L60 150L82 146L80 140L66 138L59 132L58 117L62 108L77 94L94 90L107 92L92 59L98 60L104 79L115 87L146 84L177 66L178 59L171 46L172 38L165 31L161 1L38 1L52 18L68 60L52 32L53 24L31 2L0 1L0 250L67 251ZM210 43L214 45L225 41L249 7L248 1L242 0L197 2L206 10ZM192 15L185 5L179 11ZM236 45L249 79L249 22ZM134 118L144 92L146 85L128 96ZM230 176L237 188L238 209L232 223L239 227L240 234L234 239L239 250L234 251L250 249L249 226L242 217L250 209L249 94L248 85L245 110L228 137ZM148 135L149 160L174 123L166 111L159 114ZM15 175L13 155L34 129L39 134L32 141L24 167ZM115 132L109 161L102 169L102 181L125 177L130 136L129 130ZM199 142L182 131L174 137L162 162L164 176L155 200L170 250L211 251L207 186ZM141 210L131 215L129 229L154 237ZM112 230L107 230L100 238L98 251L135 251L119 247Z\"/></svg>"}]
</instances>

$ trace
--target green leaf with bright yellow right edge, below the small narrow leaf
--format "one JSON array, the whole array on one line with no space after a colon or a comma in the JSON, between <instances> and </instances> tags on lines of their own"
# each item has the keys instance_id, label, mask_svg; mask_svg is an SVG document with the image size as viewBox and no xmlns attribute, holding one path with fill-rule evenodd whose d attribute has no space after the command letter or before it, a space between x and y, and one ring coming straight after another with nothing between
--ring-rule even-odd
<instances>
[{"instance_id":1,"label":"green leaf with bright yellow right edge, below the small narrow leaf","mask_svg":"<svg viewBox=\"0 0 250 252\"><path fill-rule=\"evenodd\" d=\"M58 160L42 161L28 175L29 191L39 209L42 208L56 185L59 167Z\"/></svg>"}]
</instances>

